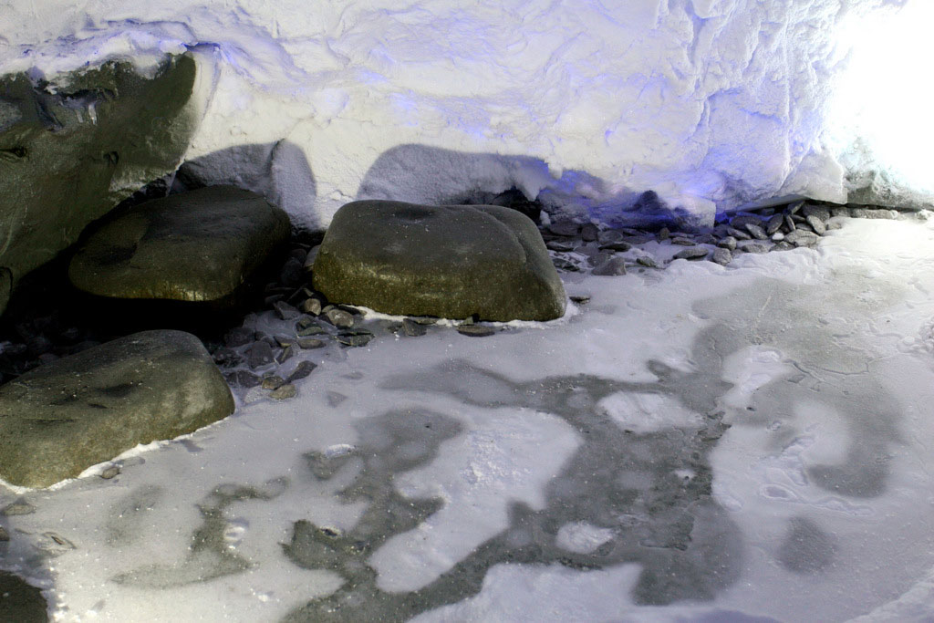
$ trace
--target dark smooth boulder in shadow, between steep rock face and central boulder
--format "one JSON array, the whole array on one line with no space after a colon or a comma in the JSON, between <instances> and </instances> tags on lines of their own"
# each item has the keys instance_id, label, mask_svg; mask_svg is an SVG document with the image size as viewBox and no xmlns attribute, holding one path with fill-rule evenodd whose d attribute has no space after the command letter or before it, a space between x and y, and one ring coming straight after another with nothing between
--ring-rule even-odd
<instances>
[{"instance_id":1,"label":"dark smooth boulder in shadow, between steep rock face and central boulder","mask_svg":"<svg viewBox=\"0 0 934 623\"><path fill-rule=\"evenodd\" d=\"M289 240L286 213L262 196L212 186L136 205L78 249L68 277L116 299L219 301Z\"/></svg>"}]
</instances>

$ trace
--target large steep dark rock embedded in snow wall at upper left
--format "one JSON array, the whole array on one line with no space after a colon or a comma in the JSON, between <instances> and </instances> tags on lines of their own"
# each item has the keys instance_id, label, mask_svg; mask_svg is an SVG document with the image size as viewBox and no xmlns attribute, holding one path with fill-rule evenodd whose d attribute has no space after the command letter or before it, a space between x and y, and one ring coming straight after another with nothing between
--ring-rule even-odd
<instances>
[{"instance_id":1,"label":"large steep dark rock embedded in snow wall at upper left","mask_svg":"<svg viewBox=\"0 0 934 623\"><path fill-rule=\"evenodd\" d=\"M8 280L175 170L201 118L196 74L194 58L183 55L147 76L109 62L53 82L0 77L0 271ZM8 292L0 287L0 312Z\"/></svg>"}]
</instances>

